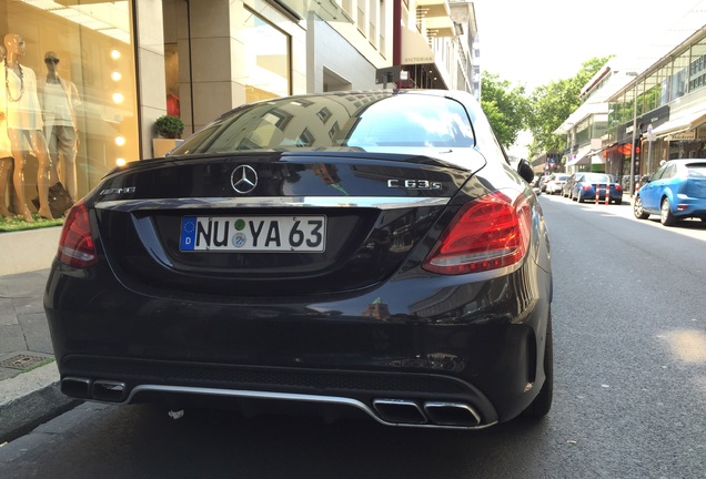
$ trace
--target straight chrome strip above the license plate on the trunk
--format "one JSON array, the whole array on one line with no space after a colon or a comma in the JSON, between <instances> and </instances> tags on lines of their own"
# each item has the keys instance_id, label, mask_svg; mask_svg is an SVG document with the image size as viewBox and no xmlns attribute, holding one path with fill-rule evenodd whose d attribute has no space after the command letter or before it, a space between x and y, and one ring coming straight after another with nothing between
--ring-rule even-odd
<instances>
[{"instance_id":1,"label":"straight chrome strip above the license plate on the trunk","mask_svg":"<svg viewBox=\"0 0 706 479\"><path fill-rule=\"evenodd\" d=\"M163 200L98 201L99 210L133 212L140 210L222 210L233 207L374 207L399 210L405 207L444 206L448 197L417 196L255 196L243 198L196 197Z\"/></svg>"}]
</instances>

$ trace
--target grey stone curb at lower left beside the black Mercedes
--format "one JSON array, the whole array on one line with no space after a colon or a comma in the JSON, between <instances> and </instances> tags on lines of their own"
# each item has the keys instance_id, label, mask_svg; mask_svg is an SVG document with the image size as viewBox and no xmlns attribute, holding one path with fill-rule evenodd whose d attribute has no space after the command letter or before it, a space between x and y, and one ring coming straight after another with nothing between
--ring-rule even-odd
<instances>
[{"instance_id":1,"label":"grey stone curb at lower left beside the black Mercedes","mask_svg":"<svg viewBox=\"0 0 706 479\"><path fill-rule=\"evenodd\" d=\"M56 363L0 381L0 447L79 404L61 394Z\"/></svg>"}]
</instances>

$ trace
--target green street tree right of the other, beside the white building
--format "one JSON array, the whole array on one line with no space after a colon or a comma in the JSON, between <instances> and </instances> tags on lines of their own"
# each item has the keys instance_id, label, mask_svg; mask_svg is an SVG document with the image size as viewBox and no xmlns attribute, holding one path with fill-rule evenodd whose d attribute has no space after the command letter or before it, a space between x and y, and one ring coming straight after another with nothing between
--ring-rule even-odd
<instances>
[{"instance_id":1,"label":"green street tree right of the other, beside the white building","mask_svg":"<svg viewBox=\"0 0 706 479\"><path fill-rule=\"evenodd\" d=\"M554 131L581 105L581 90L609 59L611 57L593 58L584 62L573 78L553 81L532 92L527 116L527 126L533 137L530 156L564 150L565 135L556 135Z\"/></svg>"}]
</instances>

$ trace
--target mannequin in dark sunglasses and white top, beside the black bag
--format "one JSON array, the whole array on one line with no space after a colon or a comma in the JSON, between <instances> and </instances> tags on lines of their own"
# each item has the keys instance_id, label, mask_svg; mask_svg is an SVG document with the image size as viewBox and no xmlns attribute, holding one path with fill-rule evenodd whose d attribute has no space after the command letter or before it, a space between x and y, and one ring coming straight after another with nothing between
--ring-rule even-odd
<instances>
[{"instance_id":1,"label":"mannequin in dark sunglasses and white top, beside the black bag","mask_svg":"<svg viewBox=\"0 0 706 479\"><path fill-rule=\"evenodd\" d=\"M79 140L75 108L81 100L75 85L59 77L59 61L52 51L44 54L47 77L39 79L39 99L44 112L44 137L51 156L50 184L62 182L71 197L75 198Z\"/></svg>"}]
</instances>

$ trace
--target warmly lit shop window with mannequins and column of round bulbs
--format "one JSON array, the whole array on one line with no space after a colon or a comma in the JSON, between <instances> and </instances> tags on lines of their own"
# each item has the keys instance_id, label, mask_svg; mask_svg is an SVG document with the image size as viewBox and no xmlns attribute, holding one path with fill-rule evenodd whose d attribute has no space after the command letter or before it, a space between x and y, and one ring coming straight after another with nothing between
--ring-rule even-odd
<instances>
[{"instance_id":1,"label":"warmly lit shop window with mannequins and column of round bulbs","mask_svg":"<svg viewBox=\"0 0 706 479\"><path fill-rule=\"evenodd\" d=\"M33 220L37 211L47 216L43 174L77 201L115 165L139 159L131 2L77 3L0 0L0 43L12 59L0 69L1 128L22 132L10 135L22 157L10 161L26 162L23 184L11 184L0 206L21 213L26 204ZM26 140L32 135L36 143Z\"/></svg>"}]
</instances>

